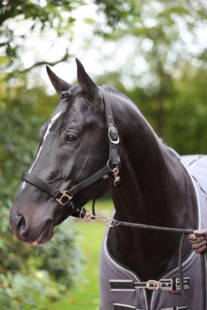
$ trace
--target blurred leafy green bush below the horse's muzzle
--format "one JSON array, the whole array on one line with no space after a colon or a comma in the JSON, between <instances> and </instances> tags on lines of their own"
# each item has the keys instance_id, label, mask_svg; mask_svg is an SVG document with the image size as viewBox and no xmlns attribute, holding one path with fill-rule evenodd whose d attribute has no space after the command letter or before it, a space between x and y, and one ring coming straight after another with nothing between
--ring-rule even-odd
<instances>
[{"instance_id":1,"label":"blurred leafy green bush below the horse's muzzle","mask_svg":"<svg viewBox=\"0 0 207 310\"><path fill-rule=\"evenodd\" d=\"M58 227L47 245L32 247L11 235L6 225L8 209L1 208L0 215L1 309L50 309L43 306L45 300L54 302L66 296L83 269L74 223L68 220Z\"/></svg>"}]
</instances>

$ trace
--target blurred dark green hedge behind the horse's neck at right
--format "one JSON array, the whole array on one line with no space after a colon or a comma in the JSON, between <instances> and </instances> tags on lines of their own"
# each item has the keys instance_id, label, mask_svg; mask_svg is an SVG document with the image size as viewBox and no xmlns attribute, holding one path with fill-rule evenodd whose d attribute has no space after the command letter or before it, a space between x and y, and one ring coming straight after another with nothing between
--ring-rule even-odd
<instances>
[{"instance_id":1,"label":"blurred dark green hedge behind the horse's neck at right","mask_svg":"<svg viewBox=\"0 0 207 310\"><path fill-rule=\"evenodd\" d=\"M126 94L157 134L179 154L207 153L206 70L193 65L180 68L179 78L167 76L164 89L148 94L141 87L128 90L119 72L99 76Z\"/></svg>"}]
</instances>

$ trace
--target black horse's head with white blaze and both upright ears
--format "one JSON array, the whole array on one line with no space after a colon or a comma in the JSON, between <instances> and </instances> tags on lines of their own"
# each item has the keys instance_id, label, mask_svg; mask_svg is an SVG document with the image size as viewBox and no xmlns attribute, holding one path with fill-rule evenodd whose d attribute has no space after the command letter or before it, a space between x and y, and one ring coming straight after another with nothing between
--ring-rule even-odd
<instances>
[{"instance_id":1,"label":"black horse's head with white blaze and both upright ears","mask_svg":"<svg viewBox=\"0 0 207 310\"><path fill-rule=\"evenodd\" d=\"M59 189L59 193L67 192L104 166L110 172L107 165L110 141L100 88L79 60L78 85L66 83L50 68L47 71L61 101L41 127L37 156L10 210L14 235L34 245L48 242L56 225L80 210L88 200L105 195L112 185L112 174L106 173L106 177L101 174L95 182L89 182L87 188L82 186L73 197L68 198L67 194L59 197L60 203L46 190L51 186ZM32 183L33 178L36 183ZM63 203L64 198L68 203Z\"/></svg>"}]
</instances>

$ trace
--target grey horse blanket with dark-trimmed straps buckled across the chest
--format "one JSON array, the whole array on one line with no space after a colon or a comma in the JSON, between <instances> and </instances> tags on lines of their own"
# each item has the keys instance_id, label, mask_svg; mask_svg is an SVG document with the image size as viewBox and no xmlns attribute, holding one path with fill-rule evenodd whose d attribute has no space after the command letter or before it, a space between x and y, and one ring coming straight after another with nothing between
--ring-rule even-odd
<instances>
[{"instance_id":1,"label":"grey horse blanket with dark-trimmed straps buckled across the chest","mask_svg":"<svg viewBox=\"0 0 207 310\"><path fill-rule=\"evenodd\" d=\"M180 161L192 178L197 194L197 229L207 228L207 156L181 156ZM177 268L156 279L163 285L152 291L152 298L148 300L146 286L156 288L157 281L141 282L139 276L119 265L110 256L107 237L108 229L101 249L99 310L187 310L179 290ZM200 256L192 251L183 263L183 271L187 296L193 308L201 310Z\"/></svg>"}]
</instances>

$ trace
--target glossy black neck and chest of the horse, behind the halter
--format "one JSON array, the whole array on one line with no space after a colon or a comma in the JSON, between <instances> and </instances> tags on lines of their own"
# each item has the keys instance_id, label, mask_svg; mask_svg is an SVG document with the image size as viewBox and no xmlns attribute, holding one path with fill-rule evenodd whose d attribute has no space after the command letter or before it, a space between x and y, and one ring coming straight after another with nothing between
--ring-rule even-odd
<instances>
[{"instance_id":1,"label":"glossy black neck and chest of the horse, behind the halter","mask_svg":"<svg viewBox=\"0 0 207 310\"><path fill-rule=\"evenodd\" d=\"M112 189L117 220L195 228L196 200L188 174L150 127L142 130L122 145L121 185ZM112 255L144 280L175 265L178 244L175 233L125 227L111 229L108 242Z\"/></svg>"}]
</instances>

